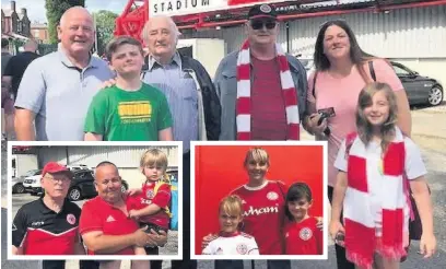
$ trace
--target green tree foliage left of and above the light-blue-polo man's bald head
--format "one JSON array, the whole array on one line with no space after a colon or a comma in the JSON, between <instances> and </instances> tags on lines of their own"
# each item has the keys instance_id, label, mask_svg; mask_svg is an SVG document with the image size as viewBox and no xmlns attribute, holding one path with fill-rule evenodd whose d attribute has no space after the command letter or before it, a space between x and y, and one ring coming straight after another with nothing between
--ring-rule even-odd
<instances>
[{"instance_id":1,"label":"green tree foliage left of and above the light-blue-polo man's bald head","mask_svg":"<svg viewBox=\"0 0 446 269\"><path fill-rule=\"evenodd\" d=\"M74 5L85 7L85 0L45 0L47 11L49 43L57 44L57 25L63 12Z\"/></svg>"}]
</instances>

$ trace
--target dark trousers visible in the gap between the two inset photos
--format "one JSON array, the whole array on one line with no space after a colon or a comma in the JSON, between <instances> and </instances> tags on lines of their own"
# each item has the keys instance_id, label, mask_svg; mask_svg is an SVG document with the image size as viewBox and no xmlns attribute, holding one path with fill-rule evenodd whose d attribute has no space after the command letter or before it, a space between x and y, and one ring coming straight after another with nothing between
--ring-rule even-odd
<instances>
[{"instance_id":1,"label":"dark trousers visible in the gap between the two inset photos","mask_svg":"<svg viewBox=\"0 0 446 269\"><path fill-rule=\"evenodd\" d=\"M183 154L183 260L173 260L172 269L196 269L190 259L190 152Z\"/></svg>"}]
</instances>

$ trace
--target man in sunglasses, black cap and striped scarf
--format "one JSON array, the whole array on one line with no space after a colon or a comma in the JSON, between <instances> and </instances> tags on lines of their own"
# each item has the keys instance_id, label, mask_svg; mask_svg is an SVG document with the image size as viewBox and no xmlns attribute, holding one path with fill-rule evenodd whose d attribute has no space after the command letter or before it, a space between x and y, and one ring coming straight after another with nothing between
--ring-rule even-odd
<instances>
[{"instance_id":1,"label":"man in sunglasses, black cap and striped scarf","mask_svg":"<svg viewBox=\"0 0 446 269\"><path fill-rule=\"evenodd\" d=\"M227 55L214 84L222 106L220 140L300 140L306 71L277 44L278 14L253 7L240 50Z\"/></svg>"}]
</instances>

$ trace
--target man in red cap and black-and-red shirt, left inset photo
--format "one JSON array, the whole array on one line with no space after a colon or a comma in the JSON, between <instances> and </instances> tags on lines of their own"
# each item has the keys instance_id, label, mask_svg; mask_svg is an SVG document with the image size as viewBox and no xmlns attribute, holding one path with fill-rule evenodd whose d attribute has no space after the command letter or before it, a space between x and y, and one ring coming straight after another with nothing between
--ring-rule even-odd
<instances>
[{"instance_id":1,"label":"man in red cap and black-and-red shirt, left inset photo","mask_svg":"<svg viewBox=\"0 0 446 269\"><path fill-rule=\"evenodd\" d=\"M78 230L81 209L66 199L72 177L64 165L45 165L44 197L19 209L12 223L13 255L85 254Z\"/></svg>"}]
</instances>

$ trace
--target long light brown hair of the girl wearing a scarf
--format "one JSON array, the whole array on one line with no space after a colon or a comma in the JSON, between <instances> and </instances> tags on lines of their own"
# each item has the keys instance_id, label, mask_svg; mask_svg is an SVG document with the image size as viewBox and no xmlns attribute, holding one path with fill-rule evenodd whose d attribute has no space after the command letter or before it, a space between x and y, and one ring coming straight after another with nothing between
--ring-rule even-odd
<instances>
[{"instance_id":1,"label":"long light brown hair of the girl wearing a scarf","mask_svg":"<svg viewBox=\"0 0 446 269\"><path fill-rule=\"evenodd\" d=\"M361 91L360 97L357 98L356 108L356 128L357 134L361 140L368 144L372 140L373 128L368 122L366 116L364 115L364 109L373 104L373 96L383 91L386 95L387 102L389 103L389 117L383 124L380 129L382 134L382 148L383 152L386 151L387 145L394 140L395 137L395 125L398 120L398 105L397 97L395 96L391 87L386 83L373 82L365 85Z\"/></svg>"}]
</instances>

